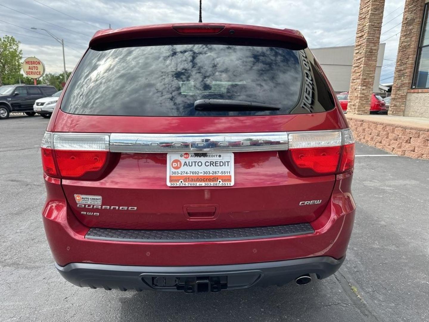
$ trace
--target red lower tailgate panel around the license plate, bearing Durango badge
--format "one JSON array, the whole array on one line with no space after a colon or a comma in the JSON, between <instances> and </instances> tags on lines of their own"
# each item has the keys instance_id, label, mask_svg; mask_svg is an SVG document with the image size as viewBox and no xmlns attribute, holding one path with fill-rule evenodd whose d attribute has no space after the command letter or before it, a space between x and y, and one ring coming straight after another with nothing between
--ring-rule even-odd
<instances>
[{"instance_id":1,"label":"red lower tailgate panel around the license plate, bearing Durango badge","mask_svg":"<svg viewBox=\"0 0 429 322\"><path fill-rule=\"evenodd\" d=\"M90 227L119 229L204 229L287 225L311 222L329 200L335 175L300 178L273 152L236 152L232 187L168 187L166 155L121 155L115 169L99 181L64 180L63 189L79 220ZM82 215L74 194L103 196L103 205L137 207L136 211L100 210ZM321 204L299 207L302 200ZM168 201L168 202L165 202ZM219 204L211 221L190 221L186 204ZM87 206L91 207L91 206Z\"/></svg>"}]
</instances>

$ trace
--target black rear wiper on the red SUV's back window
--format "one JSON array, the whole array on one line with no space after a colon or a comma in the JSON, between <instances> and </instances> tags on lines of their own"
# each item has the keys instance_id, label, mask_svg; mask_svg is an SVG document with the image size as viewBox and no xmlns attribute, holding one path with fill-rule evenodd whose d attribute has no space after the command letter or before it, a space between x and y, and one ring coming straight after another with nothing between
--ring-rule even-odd
<instances>
[{"instance_id":1,"label":"black rear wiper on the red SUV's back window","mask_svg":"<svg viewBox=\"0 0 429 322\"><path fill-rule=\"evenodd\" d=\"M245 102L242 100L197 100L194 103L197 111L278 111L279 106Z\"/></svg>"}]
</instances>

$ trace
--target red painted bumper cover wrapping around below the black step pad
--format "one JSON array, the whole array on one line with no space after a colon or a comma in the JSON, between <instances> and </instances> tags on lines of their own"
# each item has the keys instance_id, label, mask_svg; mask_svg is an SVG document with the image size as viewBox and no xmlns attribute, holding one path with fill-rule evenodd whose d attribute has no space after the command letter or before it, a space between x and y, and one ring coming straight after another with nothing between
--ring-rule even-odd
<instances>
[{"instance_id":1,"label":"red painted bumper cover wrapping around below the black step pad","mask_svg":"<svg viewBox=\"0 0 429 322\"><path fill-rule=\"evenodd\" d=\"M55 261L150 266L255 263L293 258L342 258L353 228L352 172L338 175L328 206L301 236L199 243L133 243L85 240L89 228L73 215L59 180L45 176L43 223Z\"/></svg>"}]
</instances>

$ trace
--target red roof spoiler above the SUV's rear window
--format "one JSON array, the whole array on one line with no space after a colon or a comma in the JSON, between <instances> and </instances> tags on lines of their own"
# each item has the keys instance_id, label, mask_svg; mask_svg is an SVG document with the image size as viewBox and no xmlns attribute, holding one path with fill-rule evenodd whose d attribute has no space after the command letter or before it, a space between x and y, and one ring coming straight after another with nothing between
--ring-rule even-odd
<instances>
[{"instance_id":1,"label":"red roof spoiler above the SUV's rear window","mask_svg":"<svg viewBox=\"0 0 429 322\"><path fill-rule=\"evenodd\" d=\"M259 39L289 44L296 50L307 48L307 41L298 30L220 23L154 24L99 30L92 37L89 46L100 46L124 40L189 36Z\"/></svg>"}]
</instances>

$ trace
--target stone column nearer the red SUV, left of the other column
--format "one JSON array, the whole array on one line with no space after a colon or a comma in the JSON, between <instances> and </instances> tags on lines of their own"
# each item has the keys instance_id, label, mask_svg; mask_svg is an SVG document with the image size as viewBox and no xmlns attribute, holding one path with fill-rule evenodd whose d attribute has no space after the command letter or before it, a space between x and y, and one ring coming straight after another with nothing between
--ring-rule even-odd
<instances>
[{"instance_id":1,"label":"stone column nearer the red SUV, left of the other column","mask_svg":"<svg viewBox=\"0 0 429 322\"><path fill-rule=\"evenodd\" d=\"M360 0L347 113L369 114L384 0Z\"/></svg>"}]
</instances>

